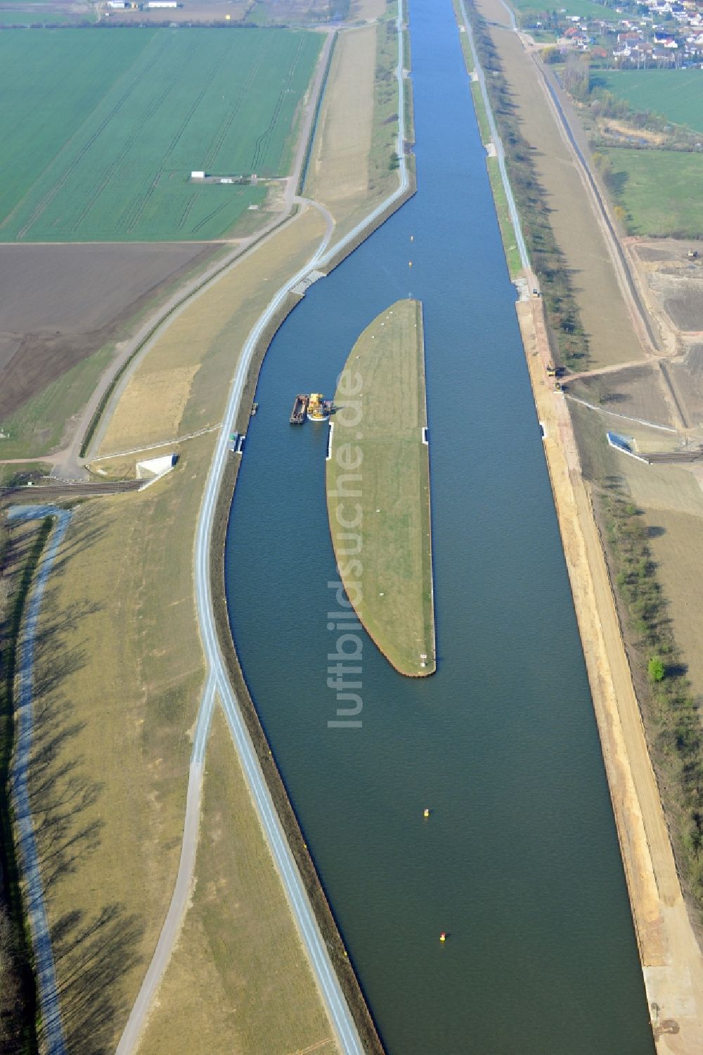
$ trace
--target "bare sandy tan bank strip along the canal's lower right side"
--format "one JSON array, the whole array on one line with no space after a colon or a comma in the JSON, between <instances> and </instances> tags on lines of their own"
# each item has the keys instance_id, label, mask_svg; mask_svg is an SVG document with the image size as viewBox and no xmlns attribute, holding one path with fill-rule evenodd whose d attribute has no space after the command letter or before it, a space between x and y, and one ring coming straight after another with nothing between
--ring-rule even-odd
<instances>
[{"instance_id":1,"label":"bare sandy tan bank strip along the canal's lower right side","mask_svg":"<svg viewBox=\"0 0 703 1055\"><path fill-rule=\"evenodd\" d=\"M477 61L477 59L476 59ZM500 72L494 75L501 76ZM554 497L658 1050L703 1044L703 958L677 874L603 539L581 472L564 397L548 381L554 359L545 302L516 305Z\"/></svg>"}]
</instances>

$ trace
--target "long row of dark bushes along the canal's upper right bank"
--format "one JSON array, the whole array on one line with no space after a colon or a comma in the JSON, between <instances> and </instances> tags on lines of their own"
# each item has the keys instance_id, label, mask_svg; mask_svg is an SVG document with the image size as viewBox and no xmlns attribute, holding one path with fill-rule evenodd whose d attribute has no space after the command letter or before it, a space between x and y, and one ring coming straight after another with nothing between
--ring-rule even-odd
<instances>
[{"instance_id":1,"label":"long row of dark bushes along the canal's upper right bank","mask_svg":"<svg viewBox=\"0 0 703 1055\"><path fill-rule=\"evenodd\" d=\"M540 280L550 338L556 345L555 358L564 366L583 370L589 358L588 338L581 323L569 269L549 223L549 208L530 147L520 131L515 108L486 22L472 3L468 5L468 14L479 61L486 75L491 109L503 140L525 242L532 268Z\"/></svg>"}]
</instances>

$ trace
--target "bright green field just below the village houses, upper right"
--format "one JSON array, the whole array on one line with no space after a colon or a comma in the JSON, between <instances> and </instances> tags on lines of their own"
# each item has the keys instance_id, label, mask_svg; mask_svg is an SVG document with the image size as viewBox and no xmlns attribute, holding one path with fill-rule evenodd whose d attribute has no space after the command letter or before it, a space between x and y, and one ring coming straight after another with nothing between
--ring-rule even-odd
<instances>
[{"instance_id":1,"label":"bright green field just below the village houses, upper right","mask_svg":"<svg viewBox=\"0 0 703 1055\"><path fill-rule=\"evenodd\" d=\"M700 70L603 70L593 75L593 83L625 99L632 110L648 110L703 133Z\"/></svg>"}]
</instances>

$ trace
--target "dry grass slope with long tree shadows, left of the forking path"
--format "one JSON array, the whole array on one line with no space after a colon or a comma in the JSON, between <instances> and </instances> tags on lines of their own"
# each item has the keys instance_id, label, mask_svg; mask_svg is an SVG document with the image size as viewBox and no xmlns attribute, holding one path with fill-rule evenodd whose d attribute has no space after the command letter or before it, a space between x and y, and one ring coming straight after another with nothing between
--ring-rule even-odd
<instances>
[{"instance_id":1,"label":"dry grass slope with long tree shadows, left of the forking path","mask_svg":"<svg viewBox=\"0 0 703 1055\"><path fill-rule=\"evenodd\" d=\"M194 440L170 485L78 507L42 605L30 797L71 1052L115 1050L173 890L213 442Z\"/></svg>"}]
</instances>

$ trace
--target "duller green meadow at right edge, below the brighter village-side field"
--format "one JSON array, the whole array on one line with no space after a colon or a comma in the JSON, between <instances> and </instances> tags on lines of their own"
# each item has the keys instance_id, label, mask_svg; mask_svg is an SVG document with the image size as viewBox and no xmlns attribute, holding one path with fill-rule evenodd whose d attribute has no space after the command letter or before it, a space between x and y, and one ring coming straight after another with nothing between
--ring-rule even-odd
<instances>
[{"instance_id":1,"label":"duller green meadow at right edge, below the brighter village-side field","mask_svg":"<svg viewBox=\"0 0 703 1055\"><path fill-rule=\"evenodd\" d=\"M631 234L703 236L702 154L627 148L605 153Z\"/></svg>"}]
</instances>

